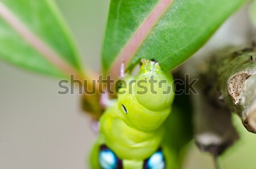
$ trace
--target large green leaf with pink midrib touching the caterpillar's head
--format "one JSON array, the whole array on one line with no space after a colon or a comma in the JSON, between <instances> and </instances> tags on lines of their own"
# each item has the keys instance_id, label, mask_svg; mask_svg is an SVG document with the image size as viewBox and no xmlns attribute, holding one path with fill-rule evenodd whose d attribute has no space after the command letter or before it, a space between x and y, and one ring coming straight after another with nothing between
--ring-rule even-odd
<instances>
[{"instance_id":1,"label":"large green leaf with pink midrib touching the caterpillar's head","mask_svg":"<svg viewBox=\"0 0 256 169\"><path fill-rule=\"evenodd\" d=\"M166 70L196 52L246 0L112 0L102 66L117 77L122 61L133 67L155 59Z\"/></svg>"}]
</instances>

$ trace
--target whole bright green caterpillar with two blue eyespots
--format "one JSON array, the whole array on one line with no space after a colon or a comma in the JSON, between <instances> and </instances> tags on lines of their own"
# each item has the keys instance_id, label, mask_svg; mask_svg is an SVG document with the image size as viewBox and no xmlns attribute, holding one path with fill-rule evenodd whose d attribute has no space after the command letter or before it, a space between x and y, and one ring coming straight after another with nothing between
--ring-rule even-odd
<instances>
[{"instance_id":1,"label":"whole bright green caterpillar with two blue eyespots","mask_svg":"<svg viewBox=\"0 0 256 169\"><path fill-rule=\"evenodd\" d=\"M150 83L152 77L155 83ZM175 95L172 76L157 62L142 60L139 74L126 74L123 80L127 86L119 89L117 102L100 118L91 167L170 168L175 157L163 141L168 137L163 123Z\"/></svg>"}]
</instances>

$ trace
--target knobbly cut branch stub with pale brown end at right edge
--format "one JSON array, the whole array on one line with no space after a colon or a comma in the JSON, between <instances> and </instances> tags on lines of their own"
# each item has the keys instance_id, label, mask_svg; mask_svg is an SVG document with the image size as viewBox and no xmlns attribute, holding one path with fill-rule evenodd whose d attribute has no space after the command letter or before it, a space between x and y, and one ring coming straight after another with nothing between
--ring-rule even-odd
<instances>
[{"instance_id":1,"label":"knobbly cut branch stub with pale brown end at right edge","mask_svg":"<svg viewBox=\"0 0 256 169\"><path fill-rule=\"evenodd\" d=\"M240 116L246 129L255 133L256 49L225 49L221 53L212 57L205 74L213 82L209 94L219 94L218 98L228 105L230 111Z\"/></svg>"}]
</instances>

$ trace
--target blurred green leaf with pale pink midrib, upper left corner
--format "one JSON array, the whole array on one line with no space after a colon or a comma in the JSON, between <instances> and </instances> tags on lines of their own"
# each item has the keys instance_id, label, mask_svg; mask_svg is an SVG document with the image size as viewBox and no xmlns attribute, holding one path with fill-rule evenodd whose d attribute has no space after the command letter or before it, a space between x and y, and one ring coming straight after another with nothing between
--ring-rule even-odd
<instances>
[{"instance_id":1,"label":"blurred green leaf with pale pink midrib, upper left corner","mask_svg":"<svg viewBox=\"0 0 256 169\"><path fill-rule=\"evenodd\" d=\"M17 66L67 77L81 66L71 35L52 0L0 1L0 58Z\"/></svg>"}]
</instances>

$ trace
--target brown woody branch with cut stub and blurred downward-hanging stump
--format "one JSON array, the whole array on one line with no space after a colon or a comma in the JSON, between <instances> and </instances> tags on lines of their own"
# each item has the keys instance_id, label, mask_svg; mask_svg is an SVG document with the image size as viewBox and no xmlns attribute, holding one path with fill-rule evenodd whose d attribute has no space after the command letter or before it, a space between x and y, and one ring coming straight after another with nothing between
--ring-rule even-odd
<instances>
[{"instance_id":1,"label":"brown woody branch with cut stub and blurred downward-hanging stump","mask_svg":"<svg viewBox=\"0 0 256 169\"><path fill-rule=\"evenodd\" d=\"M225 48L193 66L192 78L199 78L199 95L192 95L195 141L217 157L239 138L232 112L256 132L256 49Z\"/></svg>"}]
</instances>

